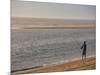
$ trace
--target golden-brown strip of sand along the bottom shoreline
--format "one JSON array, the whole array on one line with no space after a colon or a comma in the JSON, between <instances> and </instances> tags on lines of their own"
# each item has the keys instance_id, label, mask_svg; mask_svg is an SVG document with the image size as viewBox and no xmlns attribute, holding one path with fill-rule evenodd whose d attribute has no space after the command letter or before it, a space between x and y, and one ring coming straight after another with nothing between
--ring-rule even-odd
<instances>
[{"instance_id":1,"label":"golden-brown strip of sand along the bottom shoreline","mask_svg":"<svg viewBox=\"0 0 100 75\"><path fill-rule=\"evenodd\" d=\"M96 58L88 57L86 62L83 63L81 59L51 65L51 66L40 66L21 71L12 72L12 74L30 74L30 73L46 73L46 72L62 72L62 71L79 71L79 70L93 70L96 69Z\"/></svg>"}]
</instances>

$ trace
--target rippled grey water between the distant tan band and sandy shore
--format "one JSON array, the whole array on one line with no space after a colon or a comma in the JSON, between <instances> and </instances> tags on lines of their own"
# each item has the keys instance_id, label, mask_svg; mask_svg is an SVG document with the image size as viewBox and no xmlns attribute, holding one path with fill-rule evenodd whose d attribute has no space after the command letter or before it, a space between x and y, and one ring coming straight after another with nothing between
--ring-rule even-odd
<instances>
[{"instance_id":1,"label":"rippled grey water between the distant tan band and sandy shore","mask_svg":"<svg viewBox=\"0 0 100 75\"><path fill-rule=\"evenodd\" d=\"M95 56L95 29L11 30L11 70L81 58L80 47L84 41L87 44L87 56Z\"/></svg>"}]
</instances>

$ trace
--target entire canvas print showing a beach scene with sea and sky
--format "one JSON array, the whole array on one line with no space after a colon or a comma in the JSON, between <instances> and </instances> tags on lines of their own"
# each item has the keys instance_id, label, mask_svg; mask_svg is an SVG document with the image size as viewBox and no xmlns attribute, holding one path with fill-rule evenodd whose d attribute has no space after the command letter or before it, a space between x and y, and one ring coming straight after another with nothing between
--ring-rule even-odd
<instances>
[{"instance_id":1,"label":"entire canvas print showing a beach scene with sea and sky","mask_svg":"<svg viewBox=\"0 0 100 75\"><path fill-rule=\"evenodd\" d=\"M96 69L95 9L12 0L11 74Z\"/></svg>"}]
</instances>

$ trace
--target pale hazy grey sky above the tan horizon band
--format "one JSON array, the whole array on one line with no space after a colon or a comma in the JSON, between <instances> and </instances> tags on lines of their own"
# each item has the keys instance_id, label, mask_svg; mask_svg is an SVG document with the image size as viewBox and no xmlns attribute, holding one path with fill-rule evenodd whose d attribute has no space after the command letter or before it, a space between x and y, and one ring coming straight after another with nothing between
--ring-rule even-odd
<instances>
[{"instance_id":1,"label":"pale hazy grey sky above the tan horizon band","mask_svg":"<svg viewBox=\"0 0 100 75\"><path fill-rule=\"evenodd\" d=\"M11 16L59 19L96 19L96 6L12 0Z\"/></svg>"}]
</instances>

